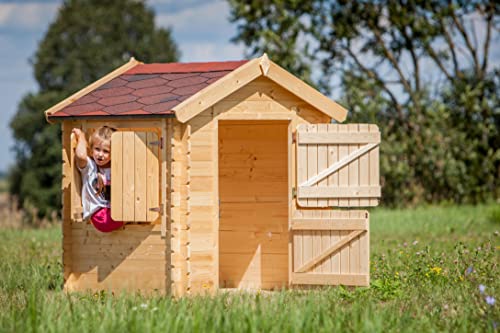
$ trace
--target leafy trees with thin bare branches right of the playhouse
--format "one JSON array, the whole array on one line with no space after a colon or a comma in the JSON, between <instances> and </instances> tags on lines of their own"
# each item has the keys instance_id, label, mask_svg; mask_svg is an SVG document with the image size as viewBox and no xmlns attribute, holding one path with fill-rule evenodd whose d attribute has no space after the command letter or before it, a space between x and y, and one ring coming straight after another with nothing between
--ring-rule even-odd
<instances>
[{"instance_id":1,"label":"leafy trees with thin bare branches right of the playhouse","mask_svg":"<svg viewBox=\"0 0 500 333\"><path fill-rule=\"evenodd\" d=\"M379 124L386 202L500 196L497 2L228 1L250 55L340 82L351 120Z\"/></svg>"}]
</instances>

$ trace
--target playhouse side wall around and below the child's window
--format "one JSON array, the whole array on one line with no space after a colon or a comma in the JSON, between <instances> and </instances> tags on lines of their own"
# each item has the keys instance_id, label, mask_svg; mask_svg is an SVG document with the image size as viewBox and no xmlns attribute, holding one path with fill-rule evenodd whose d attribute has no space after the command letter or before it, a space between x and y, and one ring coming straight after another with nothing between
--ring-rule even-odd
<instances>
[{"instance_id":1,"label":"playhouse side wall around and below the child's window","mask_svg":"<svg viewBox=\"0 0 500 333\"><path fill-rule=\"evenodd\" d=\"M115 128L161 128L162 121L92 122L65 121L63 157L63 267L68 291L109 290L120 292L170 291L170 244L161 237L161 219L130 223L112 233L101 233L87 222L75 222L71 211L71 129L108 125Z\"/></svg>"}]
</instances>

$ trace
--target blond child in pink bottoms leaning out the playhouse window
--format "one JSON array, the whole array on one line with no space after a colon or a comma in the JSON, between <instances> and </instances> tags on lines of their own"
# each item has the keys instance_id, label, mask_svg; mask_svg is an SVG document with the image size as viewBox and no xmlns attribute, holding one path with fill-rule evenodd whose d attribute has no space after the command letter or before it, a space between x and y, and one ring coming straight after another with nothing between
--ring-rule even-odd
<instances>
[{"instance_id":1,"label":"blond child in pink bottoms leaning out the playhouse window","mask_svg":"<svg viewBox=\"0 0 500 333\"><path fill-rule=\"evenodd\" d=\"M92 158L87 155L85 134L78 128L71 131L77 140L76 165L82 175L83 218L102 232L111 232L123 226L111 218L111 134L114 130L103 126L90 137Z\"/></svg>"}]
</instances>

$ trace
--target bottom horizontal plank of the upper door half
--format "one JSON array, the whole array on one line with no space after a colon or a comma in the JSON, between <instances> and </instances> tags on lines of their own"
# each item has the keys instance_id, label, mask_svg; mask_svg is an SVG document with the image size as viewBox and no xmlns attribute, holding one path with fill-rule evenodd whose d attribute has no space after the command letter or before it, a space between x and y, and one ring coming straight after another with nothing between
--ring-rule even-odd
<instances>
[{"instance_id":1,"label":"bottom horizontal plank of the upper door half","mask_svg":"<svg viewBox=\"0 0 500 333\"><path fill-rule=\"evenodd\" d=\"M297 197L306 198L379 198L380 186L299 186Z\"/></svg>"}]
</instances>

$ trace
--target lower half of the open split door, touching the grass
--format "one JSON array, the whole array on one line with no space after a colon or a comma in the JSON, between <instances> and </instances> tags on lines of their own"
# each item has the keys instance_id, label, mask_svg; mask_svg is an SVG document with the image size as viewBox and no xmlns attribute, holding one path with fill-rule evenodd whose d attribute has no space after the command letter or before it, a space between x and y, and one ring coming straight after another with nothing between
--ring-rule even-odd
<instances>
[{"instance_id":1,"label":"lower half of the open split door, touching the grass","mask_svg":"<svg viewBox=\"0 0 500 333\"><path fill-rule=\"evenodd\" d=\"M368 286L368 212L332 210L328 214L292 218L291 283Z\"/></svg>"}]
</instances>

